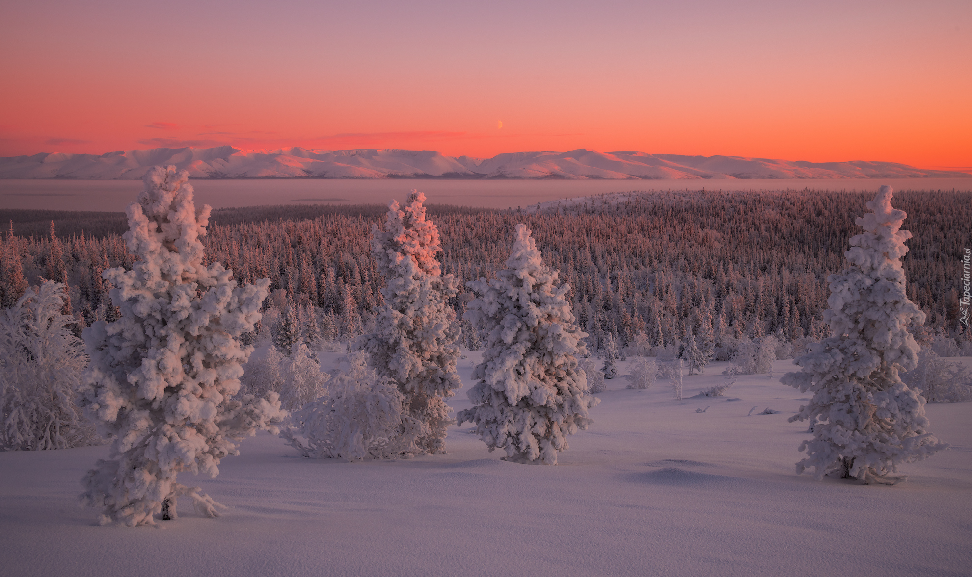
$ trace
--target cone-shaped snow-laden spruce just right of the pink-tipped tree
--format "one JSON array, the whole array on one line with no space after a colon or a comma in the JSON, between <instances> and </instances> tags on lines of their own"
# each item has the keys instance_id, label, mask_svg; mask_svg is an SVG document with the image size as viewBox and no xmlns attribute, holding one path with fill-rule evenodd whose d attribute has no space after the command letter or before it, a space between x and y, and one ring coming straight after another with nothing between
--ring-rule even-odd
<instances>
[{"instance_id":1,"label":"cone-shaped snow-laden spruce just right of the pink-tipped tree","mask_svg":"<svg viewBox=\"0 0 972 577\"><path fill-rule=\"evenodd\" d=\"M600 402L577 367L587 335L575 324L570 286L543 264L526 224L516 225L505 266L496 280L467 283L479 298L466 318L489 336L472 371L472 407L458 421L474 423L489 450L505 450L507 460L557 464L567 435L592 424L587 413Z\"/></svg>"}]
</instances>

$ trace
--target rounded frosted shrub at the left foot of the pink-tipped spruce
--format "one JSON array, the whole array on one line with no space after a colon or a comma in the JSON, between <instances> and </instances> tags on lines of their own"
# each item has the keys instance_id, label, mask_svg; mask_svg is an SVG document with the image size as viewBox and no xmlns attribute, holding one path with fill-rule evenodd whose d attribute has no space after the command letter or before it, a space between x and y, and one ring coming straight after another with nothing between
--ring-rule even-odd
<instances>
[{"instance_id":1,"label":"rounded frosted shrub at the left foot of the pink-tipped spruce","mask_svg":"<svg viewBox=\"0 0 972 577\"><path fill-rule=\"evenodd\" d=\"M291 416L280 436L307 458L399 458L418 453L426 425L403 411L405 396L352 353L333 371L328 394Z\"/></svg>"}]
</instances>

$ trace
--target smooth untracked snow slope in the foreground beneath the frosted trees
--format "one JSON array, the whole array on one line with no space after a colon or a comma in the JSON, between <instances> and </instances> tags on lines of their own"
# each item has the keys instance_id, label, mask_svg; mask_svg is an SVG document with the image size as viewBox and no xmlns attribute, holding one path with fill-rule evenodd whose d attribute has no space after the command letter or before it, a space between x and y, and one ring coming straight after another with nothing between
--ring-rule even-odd
<instances>
[{"instance_id":1,"label":"smooth untracked snow slope in the foreground beneath the frosted trees","mask_svg":"<svg viewBox=\"0 0 972 577\"><path fill-rule=\"evenodd\" d=\"M722 382L722 365L686 376L685 394ZM903 467L908 483L817 483L793 474L809 436L786 423L802 399L778 379L793 368L682 401L665 380L608 381L557 466L502 461L469 427L450 429L448 455L364 463L298 458L260 433L217 479L180 477L225 516L184 502L164 530L96 526L76 507L105 448L0 454L0 575L969 575L972 403L928 406L953 449ZM469 407L465 390L450 404Z\"/></svg>"}]
</instances>

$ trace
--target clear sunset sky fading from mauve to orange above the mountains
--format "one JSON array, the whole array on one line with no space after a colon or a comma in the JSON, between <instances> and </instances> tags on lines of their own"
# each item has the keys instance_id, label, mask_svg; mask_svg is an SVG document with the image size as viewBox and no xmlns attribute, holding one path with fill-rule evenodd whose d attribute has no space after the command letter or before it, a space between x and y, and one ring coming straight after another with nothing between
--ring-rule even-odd
<instances>
[{"instance_id":1,"label":"clear sunset sky fading from mauve to orange above the mountains","mask_svg":"<svg viewBox=\"0 0 972 577\"><path fill-rule=\"evenodd\" d=\"M8 7L0 156L586 148L972 171L967 2L158 6Z\"/></svg>"}]
</instances>

